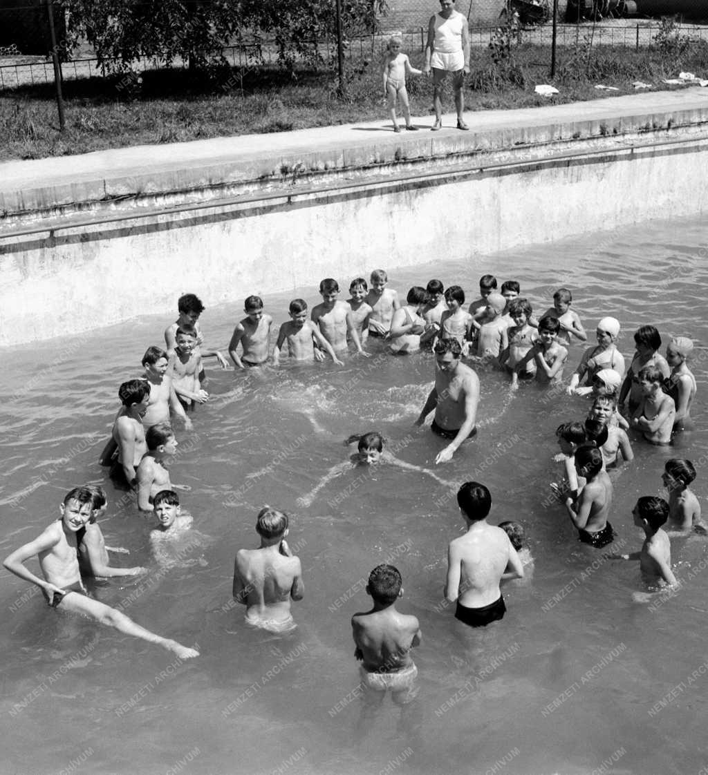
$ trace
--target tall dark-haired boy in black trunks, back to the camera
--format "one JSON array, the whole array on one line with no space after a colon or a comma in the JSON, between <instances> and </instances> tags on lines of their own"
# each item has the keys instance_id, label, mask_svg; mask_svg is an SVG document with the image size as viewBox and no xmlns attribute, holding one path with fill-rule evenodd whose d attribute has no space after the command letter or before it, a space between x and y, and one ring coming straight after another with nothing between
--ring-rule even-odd
<instances>
[{"instance_id":1,"label":"tall dark-haired boy in black trunks, back to the camera","mask_svg":"<svg viewBox=\"0 0 708 775\"><path fill-rule=\"evenodd\" d=\"M447 548L444 594L458 603L456 619L485 627L506 613L500 582L523 578L523 565L506 532L487 522L492 496L484 484L465 482L458 490L458 506L467 532Z\"/></svg>"}]
</instances>

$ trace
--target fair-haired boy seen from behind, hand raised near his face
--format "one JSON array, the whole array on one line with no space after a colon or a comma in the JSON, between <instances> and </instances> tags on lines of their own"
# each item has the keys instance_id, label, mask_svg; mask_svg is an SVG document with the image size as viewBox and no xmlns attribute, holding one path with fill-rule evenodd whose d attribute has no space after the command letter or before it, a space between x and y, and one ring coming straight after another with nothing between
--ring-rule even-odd
<instances>
[{"instance_id":1,"label":"fair-haired boy seen from behind, hand raised near his face","mask_svg":"<svg viewBox=\"0 0 708 775\"><path fill-rule=\"evenodd\" d=\"M233 599L246 606L246 622L268 632L295 629L290 600L302 600L300 560L285 541L288 515L265 506L258 512L257 549L239 549L233 565Z\"/></svg>"}]
</instances>

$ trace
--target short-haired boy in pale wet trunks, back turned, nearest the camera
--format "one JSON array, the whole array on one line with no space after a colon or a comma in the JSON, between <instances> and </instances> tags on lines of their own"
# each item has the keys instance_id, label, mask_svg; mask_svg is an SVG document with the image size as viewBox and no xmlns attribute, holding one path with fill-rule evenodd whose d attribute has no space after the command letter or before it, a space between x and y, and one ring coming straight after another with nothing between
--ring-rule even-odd
<instances>
[{"instance_id":1,"label":"short-haired boy in pale wet trunks, back turned, nearest the camera","mask_svg":"<svg viewBox=\"0 0 708 775\"><path fill-rule=\"evenodd\" d=\"M405 705L417 694L418 668L410 652L420 646L420 624L415 616L402 614L395 607L403 589L401 574L394 566L377 565L369 574L366 594L374 603L371 611L351 618L361 681L373 691L390 689L395 704Z\"/></svg>"}]
</instances>

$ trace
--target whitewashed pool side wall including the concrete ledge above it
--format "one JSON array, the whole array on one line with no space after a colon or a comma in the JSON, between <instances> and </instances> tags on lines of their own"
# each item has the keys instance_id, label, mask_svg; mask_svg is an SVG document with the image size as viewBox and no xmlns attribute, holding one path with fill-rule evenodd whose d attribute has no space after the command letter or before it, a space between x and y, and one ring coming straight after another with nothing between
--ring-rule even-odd
<instances>
[{"instance_id":1,"label":"whitewashed pool side wall including the concrete ledge above it","mask_svg":"<svg viewBox=\"0 0 708 775\"><path fill-rule=\"evenodd\" d=\"M209 153L186 143L197 146L190 164L161 162L163 146L154 164L122 167L126 149L74 157L73 175L33 167L40 183L25 175L14 186L27 169L18 165L42 162L0 165L0 344L174 312L186 291L213 306L314 292L328 276L346 289L376 267L395 280L395 267L436 257L699 215L708 99L677 105L551 120L542 108L470 133L401 138L313 129L293 133L289 149L261 140L230 155L219 140L205 141Z\"/></svg>"}]
</instances>

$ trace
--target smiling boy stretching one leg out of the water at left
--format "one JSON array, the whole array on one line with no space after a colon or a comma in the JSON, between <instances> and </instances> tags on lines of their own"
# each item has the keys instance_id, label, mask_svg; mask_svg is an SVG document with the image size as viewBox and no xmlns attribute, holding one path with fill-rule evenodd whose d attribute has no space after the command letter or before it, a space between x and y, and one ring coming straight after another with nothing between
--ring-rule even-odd
<instances>
[{"instance_id":1,"label":"smiling boy stretching one leg out of the water at left","mask_svg":"<svg viewBox=\"0 0 708 775\"><path fill-rule=\"evenodd\" d=\"M162 646L176 654L181 660L199 656L195 649L162 638L154 632L137 625L122 611L110 608L104 603L88 598L81 584L81 573L77 559L77 533L85 528L92 515L93 495L85 487L77 487L67 493L60 505L60 518L52 522L39 538L20 546L5 558L5 568L25 581L40 587L47 603L62 611L83 614L119 632ZM30 557L37 556L43 579L25 567Z\"/></svg>"}]
</instances>

